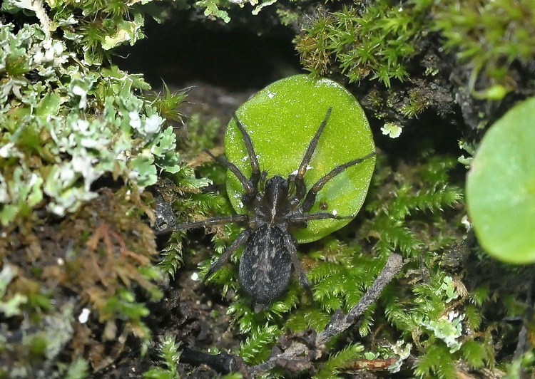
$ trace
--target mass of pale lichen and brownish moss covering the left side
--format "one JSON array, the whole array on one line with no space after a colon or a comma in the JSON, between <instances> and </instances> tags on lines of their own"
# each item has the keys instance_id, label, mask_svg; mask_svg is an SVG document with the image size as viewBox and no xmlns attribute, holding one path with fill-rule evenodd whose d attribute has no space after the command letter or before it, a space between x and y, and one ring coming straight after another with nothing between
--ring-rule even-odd
<instances>
[{"instance_id":1,"label":"mass of pale lichen and brownish moss covering the left side","mask_svg":"<svg viewBox=\"0 0 535 379\"><path fill-rule=\"evenodd\" d=\"M143 37L138 6L1 11L0 376L83 378L113 363L106 346L151 341L146 301L162 294L145 190L158 171L203 183L175 153L185 93L141 96L143 78L109 63Z\"/></svg>"}]
</instances>

